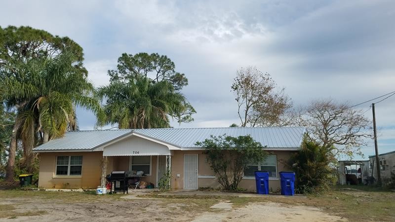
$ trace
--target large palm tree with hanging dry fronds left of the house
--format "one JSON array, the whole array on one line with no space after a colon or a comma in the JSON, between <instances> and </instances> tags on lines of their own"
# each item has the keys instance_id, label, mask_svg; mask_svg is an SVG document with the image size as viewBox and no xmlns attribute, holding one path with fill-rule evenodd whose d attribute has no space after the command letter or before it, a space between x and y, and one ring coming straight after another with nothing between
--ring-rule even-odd
<instances>
[{"instance_id":1,"label":"large palm tree with hanging dry fronds left of the house","mask_svg":"<svg viewBox=\"0 0 395 222\"><path fill-rule=\"evenodd\" d=\"M83 69L74 66L74 55L63 52L55 58L33 59L18 64L17 75L3 80L3 99L17 106L17 137L22 140L29 168L37 143L61 137L75 123L75 107L92 110L104 118L94 87Z\"/></svg>"}]
</instances>

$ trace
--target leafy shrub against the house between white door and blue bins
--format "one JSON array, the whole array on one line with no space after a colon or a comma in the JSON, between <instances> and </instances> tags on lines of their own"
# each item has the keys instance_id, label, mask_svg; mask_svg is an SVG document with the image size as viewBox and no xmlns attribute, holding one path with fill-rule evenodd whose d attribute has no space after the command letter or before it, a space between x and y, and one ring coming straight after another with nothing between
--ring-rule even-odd
<instances>
[{"instance_id":1,"label":"leafy shrub against the house between white door and blue bins","mask_svg":"<svg viewBox=\"0 0 395 222\"><path fill-rule=\"evenodd\" d=\"M262 145L250 136L211 135L211 139L196 145L205 148L210 167L225 190L238 190L247 165L263 161L267 156Z\"/></svg>"}]
</instances>

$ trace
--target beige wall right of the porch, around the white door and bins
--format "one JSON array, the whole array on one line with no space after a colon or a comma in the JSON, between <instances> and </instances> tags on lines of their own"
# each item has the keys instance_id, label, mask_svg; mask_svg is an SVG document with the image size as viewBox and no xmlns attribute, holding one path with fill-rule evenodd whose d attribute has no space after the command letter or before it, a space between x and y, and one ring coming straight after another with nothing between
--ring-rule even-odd
<instances>
[{"instance_id":1,"label":"beige wall right of the porch, around the white door and bins","mask_svg":"<svg viewBox=\"0 0 395 222\"><path fill-rule=\"evenodd\" d=\"M289 159L290 155L295 151L272 151L270 154L276 154L277 156L277 172L281 171L289 171L284 164L283 161ZM184 154L198 154L198 176L213 176L214 173L211 170L209 163L206 161L206 154L204 154L203 150L191 150L191 151L181 151L176 150L174 155L171 157L171 187L172 189L183 189L184 187ZM177 174L180 174L180 177L177 177ZM198 187L213 187L218 188L220 185L218 184L215 178L198 178L197 179L197 186ZM248 178L243 179L239 187L254 191L256 190L255 187L255 179ZM280 181L279 175L277 174L277 178L271 178L269 181L269 189L276 191L280 188Z\"/></svg>"}]
</instances>

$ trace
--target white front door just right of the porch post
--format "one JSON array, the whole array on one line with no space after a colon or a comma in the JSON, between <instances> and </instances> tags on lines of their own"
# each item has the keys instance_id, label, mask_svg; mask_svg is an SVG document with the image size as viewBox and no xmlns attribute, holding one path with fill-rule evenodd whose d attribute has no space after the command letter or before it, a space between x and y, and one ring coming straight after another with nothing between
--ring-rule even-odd
<instances>
[{"instance_id":1,"label":"white front door just right of the porch post","mask_svg":"<svg viewBox=\"0 0 395 222\"><path fill-rule=\"evenodd\" d=\"M184 154L184 189L197 189L197 154Z\"/></svg>"}]
</instances>

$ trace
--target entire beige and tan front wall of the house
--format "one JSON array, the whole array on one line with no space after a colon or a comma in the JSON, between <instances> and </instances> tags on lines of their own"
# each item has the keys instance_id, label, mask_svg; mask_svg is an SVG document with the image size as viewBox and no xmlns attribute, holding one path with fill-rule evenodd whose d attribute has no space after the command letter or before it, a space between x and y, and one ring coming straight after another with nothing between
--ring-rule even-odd
<instances>
[{"instance_id":1,"label":"entire beige and tan front wall of the house","mask_svg":"<svg viewBox=\"0 0 395 222\"><path fill-rule=\"evenodd\" d=\"M287 171L285 166L281 163L287 160L291 155L291 151L273 151L271 154L277 155L277 172ZM214 173L210 169L206 161L206 154L203 150L175 150L171 157L171 187L172 189L184 188L184 154L198 154L198 175L200 177L213 176ZM81 176L55 176L56 156L58 155L82 155L82 174ZM96 188L100 185L102 159L103 153L96 152L42 152L40 153L40 176L39 187L45 188ZM107 174L111 171L128 171L129 170L129 156L111 156L108 157ZM157 184L157 156L152 156L151 176L147 176L143 181ZM180 177L177 177L177 174ZM214 187L218 188L219 184L215 178L198 178L198 187ZM248 190L255 190L254 178L243 179L239 186ZM280 187L277 178L270 179L269 187L276 191Z\"/></svg>"}]
</instances>

